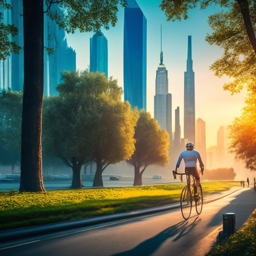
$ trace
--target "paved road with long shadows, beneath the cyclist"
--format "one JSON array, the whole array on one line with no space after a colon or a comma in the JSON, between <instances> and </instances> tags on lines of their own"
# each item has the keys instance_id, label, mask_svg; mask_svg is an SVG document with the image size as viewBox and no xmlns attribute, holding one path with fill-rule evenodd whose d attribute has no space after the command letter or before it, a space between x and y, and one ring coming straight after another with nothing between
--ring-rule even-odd
<instances>
[{"instance_id":1,"label":"paved road with long shadows, beneath the cyclist","mask_svg":"<svg viewBox=\"0 0 256 256\"><path fill-rule=\"evenodd\" d=\"M17 256L186 256L205 255L222 230L222 216L236 214L239 229L256 207L256 193L243 188L207 203L201 215L192 209L184 221L179 208L35 236L9 244L0 255ZM23 243L21 241L21 243Z\"/></svg>"}]
</instances>

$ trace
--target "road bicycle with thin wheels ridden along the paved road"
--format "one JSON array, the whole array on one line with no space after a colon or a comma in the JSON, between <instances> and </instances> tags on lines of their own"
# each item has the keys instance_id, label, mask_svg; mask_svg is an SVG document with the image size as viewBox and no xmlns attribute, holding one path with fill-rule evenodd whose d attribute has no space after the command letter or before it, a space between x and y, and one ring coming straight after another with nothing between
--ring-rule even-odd
<instances>
[{"instance_id":1,"label":"road bicycle with thin wheels ridden along the paved road","mask_svg":"<svg viewBox=\"0 0 256 256\"><path fill-rule=\"evenodd\" d=\"M197 196L195 196L195 177L187 173L178 173L177 170L172 171L172 173L174 179L176 179L176 174L186 175L187 179L187 184L183 187L180 199L183 218L188 219L190 217L193 202L195 202L196 213L199 215L203 208L203 191L201 183L197 189Z\"/></svg>"}]
</instances>

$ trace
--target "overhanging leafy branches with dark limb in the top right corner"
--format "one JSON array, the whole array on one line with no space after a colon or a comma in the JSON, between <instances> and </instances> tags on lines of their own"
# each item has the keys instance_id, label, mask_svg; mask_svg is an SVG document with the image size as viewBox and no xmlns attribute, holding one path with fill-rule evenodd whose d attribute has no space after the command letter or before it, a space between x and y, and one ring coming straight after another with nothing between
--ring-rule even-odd
<instances>
[{"instance_id":1,"label":"overhanging leafy branches with dark limb in the top right corner","mask_svg":"<svg viewBox=\"0 0 256 256\"><path fill-rule=\"evenodd\" d=\"M162 0L161 9L167 20L187 19L188 9L197 4L205 9L210 4L219 4L225 11L210 15L208 24L213 30L207 35L210 45L218 45L224 54L210 67L215 75L226 75L233 80L223 85L232 94L240 92L244 86L248 91L255 90L256 74L256 1L248 0Z\"/></svg>"}]
</instances>

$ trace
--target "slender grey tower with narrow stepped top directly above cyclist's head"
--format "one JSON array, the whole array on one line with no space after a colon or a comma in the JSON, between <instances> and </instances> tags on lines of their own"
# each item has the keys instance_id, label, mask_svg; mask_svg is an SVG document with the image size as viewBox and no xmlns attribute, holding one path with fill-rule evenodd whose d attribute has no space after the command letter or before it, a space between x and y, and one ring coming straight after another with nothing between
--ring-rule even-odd
<instances>
[{"instance_id":1,"label":"slender grey tower with narrow stepped top directly above cyclist's head","mask_svg":"<svg viewBox=\"0 0 256 256\"><path fill-rule=\"evenodd\" d=\"M184 139L195 143L195 73L191 36L188 36L187 71L184 72Z\"/></svg>"}]
</instances>

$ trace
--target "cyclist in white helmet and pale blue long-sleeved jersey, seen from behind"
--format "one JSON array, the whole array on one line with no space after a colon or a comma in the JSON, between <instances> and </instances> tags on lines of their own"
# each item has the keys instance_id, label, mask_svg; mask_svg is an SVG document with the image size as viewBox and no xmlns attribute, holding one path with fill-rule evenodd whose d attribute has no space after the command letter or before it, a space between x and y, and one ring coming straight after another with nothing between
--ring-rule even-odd
<instances>
[{"instance_id":1,"label":"cyclist in white helmet and pale blue long-sleeved jersey, seen from behind","mask_svg":"<svg viewBox=\"0 0 256 256\"><path fill-rule=\"evenodd\" d=\"M200 184L200 173L196 166L197 159L200 164L202 175L204 173L204 164L202 162L200 154L194 150L195 145L193 142L188 142L186 143L185 146L187 150L183 151L180 154L180 157L178 158L178 161L176 164L175 172L177 171L177 168L180 167L181 161L183 159L185 163L185 173L192 174L195 177L195 195L197 195L197 189Z\"/></svg>"}]
</instances>

